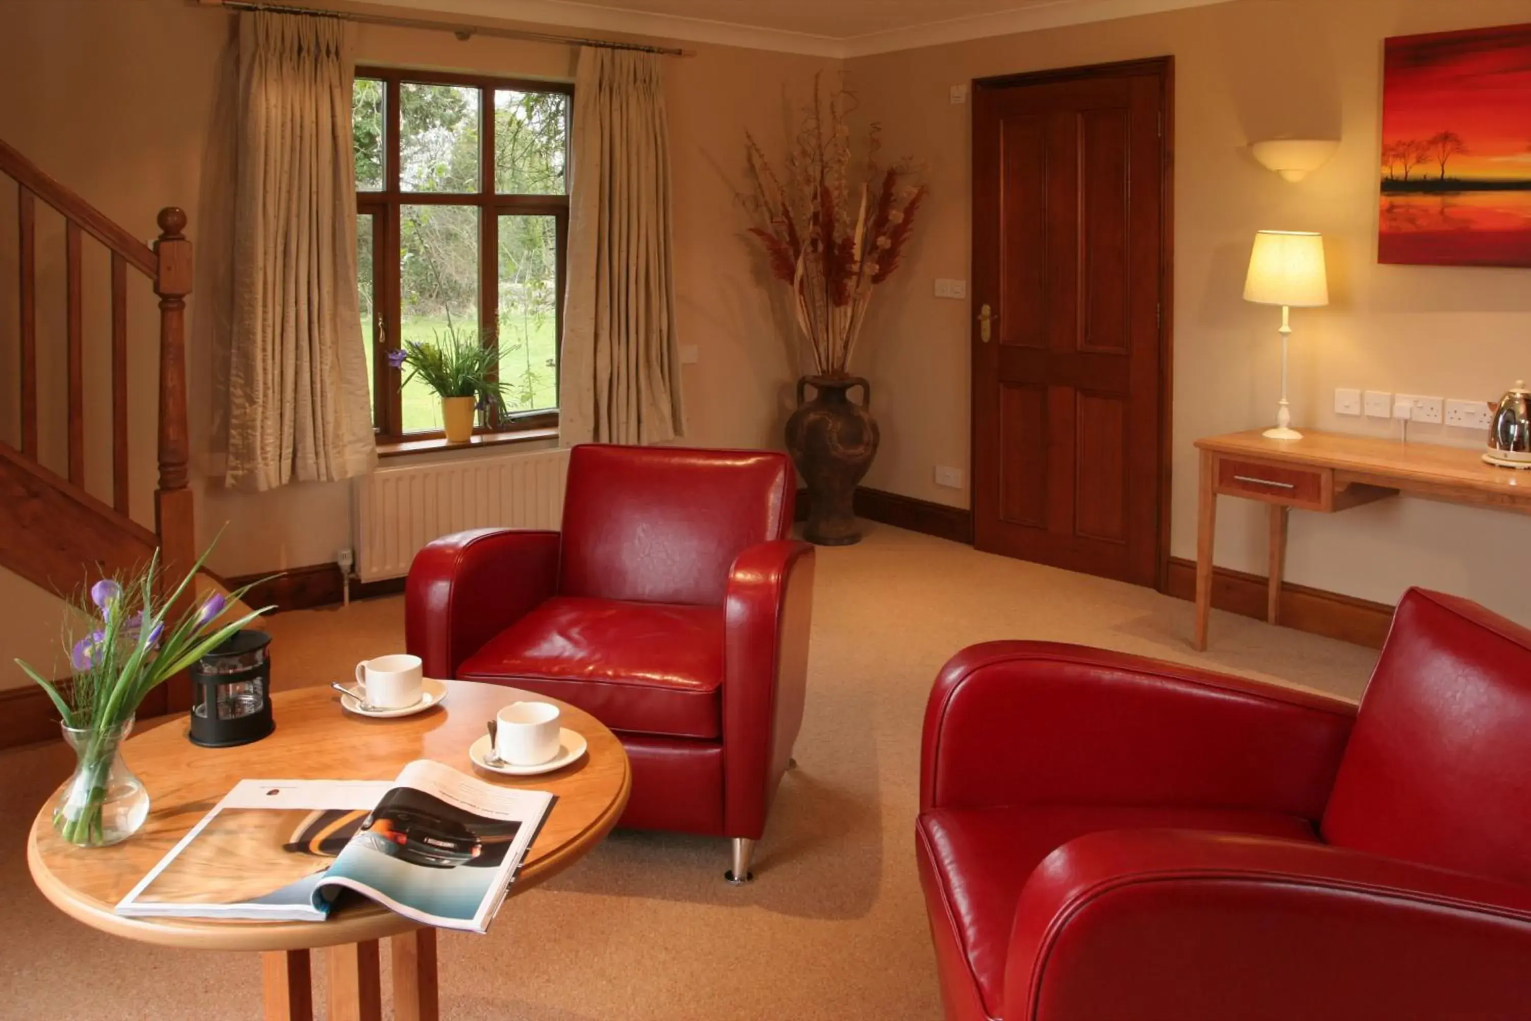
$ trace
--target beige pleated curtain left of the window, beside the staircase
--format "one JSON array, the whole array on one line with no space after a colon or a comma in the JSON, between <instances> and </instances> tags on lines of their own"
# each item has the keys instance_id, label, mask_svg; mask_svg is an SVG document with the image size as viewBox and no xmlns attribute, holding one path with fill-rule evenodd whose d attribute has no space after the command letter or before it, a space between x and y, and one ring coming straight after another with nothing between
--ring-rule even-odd
<instances>
[{"instance_id":1,"label":"beige pleated curtain left of the window, beside the staircase","mask_svg":"<svg viewBox=\"0 0 1531 1021\"><path fill-rule=\"evenodd\" d=\"M230 487L346 479L377 464L351 78L340 20L240 15Z\"/></svg>"}]
</instances>

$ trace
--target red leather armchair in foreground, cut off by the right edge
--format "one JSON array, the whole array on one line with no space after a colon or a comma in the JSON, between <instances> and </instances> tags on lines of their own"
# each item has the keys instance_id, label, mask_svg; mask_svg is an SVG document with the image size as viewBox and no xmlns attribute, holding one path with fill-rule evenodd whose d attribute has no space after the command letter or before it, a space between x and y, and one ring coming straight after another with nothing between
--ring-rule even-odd
<instances>
[{"instance_id":1,"label":"red leather armchair in foreground, cut off by the right edge","mask_svg":"<svg viewBox=\"0 0 1531 1021\"><path fill-rule=\"evenodd\" d=\"M995 641L916 827L951 1021L1531 1016L1531 632L1410 591L1349 703Z\"/></svg>"}]
</instances>

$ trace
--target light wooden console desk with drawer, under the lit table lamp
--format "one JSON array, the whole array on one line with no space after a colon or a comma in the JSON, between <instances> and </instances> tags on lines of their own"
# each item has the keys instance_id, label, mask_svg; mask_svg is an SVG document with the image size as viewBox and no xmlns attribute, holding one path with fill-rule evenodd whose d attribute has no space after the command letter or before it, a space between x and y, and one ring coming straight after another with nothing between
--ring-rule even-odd
<instances>
[{"instance_id":1,"label":"light wooden console desk with drawer, under the lit table lamp","mask_svg":"<svg viewBox=\"0 0 1531 1021\"><path fill-rule=\"evenodd\" d=\"M1202 452L1196 533L1196 648L1206 648L1213 602L1217 497L1271 507L1271 582L1266 620L1278 623L1286 516L1294 507L1332 514L1398 493L1531 514L1531 470L1485 464L1474 449L1307 432L1266 439L1260 430L1197 439Z\"/></svg>"}]
</instances>

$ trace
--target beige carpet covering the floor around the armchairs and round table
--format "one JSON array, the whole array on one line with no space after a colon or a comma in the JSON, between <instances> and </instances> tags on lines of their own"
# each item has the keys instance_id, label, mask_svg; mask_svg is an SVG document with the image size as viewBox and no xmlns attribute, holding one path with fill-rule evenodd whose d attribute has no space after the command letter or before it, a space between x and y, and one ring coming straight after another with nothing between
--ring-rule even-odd
<instances>
[{"instance_id":1,"label":"beige carpet covering the floor around the armchairs and round table","mask_svg":"<svg viewBox=\"0 0 1531 1021\"><path fill-rule=\"evenodd\" d=\"M488 937L444 935L452 1021L940 1016L914 869L920 715L940 664L991 638L1049 638L1199 663L1358 696L1375 654L868 525L819 551L801 768L784 782L759 879L723 882L727 846L617 833L507 903ZM349 675L401 651L401 599L273 620L279 686ZM63 749L0 755L0 1016L259 1018L254 955L115 940L54 911L26 874L26 827L69 771Z\"/></svg>"}]
</instances>

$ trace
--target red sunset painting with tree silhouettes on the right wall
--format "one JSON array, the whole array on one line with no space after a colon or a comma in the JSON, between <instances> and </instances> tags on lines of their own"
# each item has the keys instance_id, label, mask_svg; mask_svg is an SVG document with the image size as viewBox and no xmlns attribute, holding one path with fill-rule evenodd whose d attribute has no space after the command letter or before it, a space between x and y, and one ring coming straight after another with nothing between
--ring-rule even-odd
<instances>
[{"instance_id":1,"label":"red sunset painting with tree silhouettes on the right wall","mask_svg":"<svg viewBox=\"0 0 1531 1021\"><path fill-rule=\"evenodd\" d=\"M1531 266L1531 24L1387 40L1378 262Z\"/></svg>"}]
</instances>

